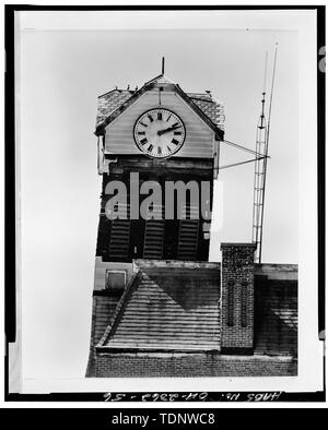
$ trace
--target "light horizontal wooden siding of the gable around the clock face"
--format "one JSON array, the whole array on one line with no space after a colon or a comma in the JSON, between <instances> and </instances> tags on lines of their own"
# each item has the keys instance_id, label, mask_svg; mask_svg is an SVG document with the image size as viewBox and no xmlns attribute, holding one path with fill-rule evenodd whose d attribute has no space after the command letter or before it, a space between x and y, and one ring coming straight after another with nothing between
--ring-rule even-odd
<instances>
[{"instance_id":1,"label":"light horizontal wooden siding of the gable around the clock face","mask_svg":"<svg viewBox=\"0 0 328 430\"><path fill-rule=\"evenodd\" d=\"M176 112L186 126L186 140L181 150L173 157L212 158L214 133L197 114L175 93L162 92L161 106L159 92L143 94L117 119L106 128L106 154L141 154L134 143L133 126L141 114L153 108L166 108Z\"/></svg>"}]
</instances>

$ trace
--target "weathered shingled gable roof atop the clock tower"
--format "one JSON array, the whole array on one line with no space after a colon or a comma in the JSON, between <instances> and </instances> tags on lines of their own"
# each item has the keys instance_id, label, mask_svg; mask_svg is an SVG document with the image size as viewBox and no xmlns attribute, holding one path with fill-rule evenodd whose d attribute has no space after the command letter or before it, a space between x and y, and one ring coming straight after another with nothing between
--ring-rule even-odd
<instances>
[{"instance_id":1,"label":"weathered shingled gable roof atop the clock tower","mask_svg":"<svg viewBox=\"0 0 328 430\"><path fill-rule=\"evenodd\" d=\"M140 89L112 89L98 97L96 130L112 116L114 112L122 110L122 107L133 103L148 87L155 85L171 85L174 86L180 95L187 97L195 108L199 109L201 114L208 118L210 123L218 127L219 130L224 131L224 106L222 103L212 98L210 93L184 93L178 85L173 84L164 75L159 75L153 80L147 82Z\"/></svg>"}]
</instances>

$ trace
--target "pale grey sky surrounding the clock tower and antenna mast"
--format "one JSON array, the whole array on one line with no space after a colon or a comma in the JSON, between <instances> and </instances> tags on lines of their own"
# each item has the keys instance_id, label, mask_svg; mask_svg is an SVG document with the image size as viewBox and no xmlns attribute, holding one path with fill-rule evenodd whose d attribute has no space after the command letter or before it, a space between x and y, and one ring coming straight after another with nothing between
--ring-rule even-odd
<instances>
[{"instance_id":1,"label":"pale grey sky surrounding the clock tower and antenna mast","mask_svg":"<svg viewBox=\"0 0 328 430\"><path fill-rule=\"evenodd\" d=\"M97 96L161 72L225 105L225 139L255 148L265 53L272 104L262 262L297 263L298 40L271 29L54 31L23 27L19 47L23 372L83 378L91 331L101 177ZM247 159L222 145L221 163ZM211 261L251 240L254 164L221 170Z\"/></svg>"}]
</instances>

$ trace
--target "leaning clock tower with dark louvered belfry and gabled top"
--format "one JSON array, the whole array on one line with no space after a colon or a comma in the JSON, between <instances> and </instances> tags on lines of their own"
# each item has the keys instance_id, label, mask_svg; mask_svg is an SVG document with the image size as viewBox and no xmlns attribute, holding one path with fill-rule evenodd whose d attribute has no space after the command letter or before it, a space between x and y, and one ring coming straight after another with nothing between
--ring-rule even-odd
<instances>
[{"instance_id":1,"label":"leaning clock tower with dark louvered belfry and gabled top","mask_svg":"<svg viewBox=\"0 0 328 430\"><path fill-rule=\"evenodd\" d=\"M210 92L185 93L164 74L98 97L103 183L86 375L95 375L96 346L134 282L136 261L208 262L223 122Z\"/></svg>"}]
</instances>

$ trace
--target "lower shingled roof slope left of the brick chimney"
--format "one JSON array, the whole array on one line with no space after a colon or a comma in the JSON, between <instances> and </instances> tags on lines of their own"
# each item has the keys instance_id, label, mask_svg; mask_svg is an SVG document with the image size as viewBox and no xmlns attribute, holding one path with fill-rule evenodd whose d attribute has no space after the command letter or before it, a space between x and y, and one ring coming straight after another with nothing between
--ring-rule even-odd
<instances>
[{"instance_id":1,"label":"lower shingled roof slope left of the brick chimney","mask_svg":"<svg viewBox=\"0 0 328 430\"><path fill-rule=\"evenodd\" d=\"M220 345L220 265L140 267L102 346L213 350Z\"/></svg>"}]
</instances>

